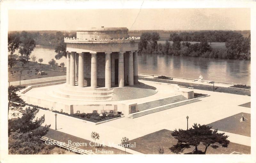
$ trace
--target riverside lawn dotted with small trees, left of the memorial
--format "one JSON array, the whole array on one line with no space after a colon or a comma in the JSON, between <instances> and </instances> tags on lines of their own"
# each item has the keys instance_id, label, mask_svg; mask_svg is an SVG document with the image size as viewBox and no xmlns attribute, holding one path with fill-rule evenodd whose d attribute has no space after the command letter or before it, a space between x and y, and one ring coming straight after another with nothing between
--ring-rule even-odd
<instances>
[{"instance_id":1,"label":"riverside lawn dotted with small trees, left of the memorial","mask_svg":"<svg viewBox=\"0 0 256 163\"><path fill-rule=\"evenodd\" d=\"M36 75L36 68L40 71L44 71L45 75ZM63 76L66 75L66 67L59 66L50 66L46 64L40 65L40 63L28 62L22 68L20 62L17 62L16 66L12 66L12 68L8 68L8 81L15 82L20 81L20 70L22 70L21 81L22 80L30 80L30 79L38 79L38 78L47 78L54 76ZM13 74L11 74L11 71ZM31 72L32 71L32 72Z\"/></svg>"}]
</instances>

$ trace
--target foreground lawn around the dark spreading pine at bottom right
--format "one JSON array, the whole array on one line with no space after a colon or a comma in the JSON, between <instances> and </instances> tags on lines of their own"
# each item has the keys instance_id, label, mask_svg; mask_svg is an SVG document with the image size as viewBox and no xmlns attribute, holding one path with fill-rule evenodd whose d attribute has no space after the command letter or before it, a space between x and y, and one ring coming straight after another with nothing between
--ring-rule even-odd
<instances>
[{"instance_id":1,"label":"foreground lawn around the dark spreading pine at bottom right","mask_svg":"<svg viewBox=\"0 0 256 163\"><path fill-rule=\"evenodd\" d=\"M132 148L134 151L138 151L144 154L158 154L158 147L161 146L164 148L164 154L174 154L169 149L173 145L177 143L177 140L171 135L172 131L170 130L160 130L133 140L130 140L130 143L136 142L136 148ZM204 150L204 146L199 147L199 150ZM193 151L194 148L184 150L183 153L188 153ZM250 154L251 147L245 146L236 143L229 143L227 148L219 147L217 149L213 149L211 147L207 148L206 154L230 154L233 151Z\"/></svg>"}]
</instances>

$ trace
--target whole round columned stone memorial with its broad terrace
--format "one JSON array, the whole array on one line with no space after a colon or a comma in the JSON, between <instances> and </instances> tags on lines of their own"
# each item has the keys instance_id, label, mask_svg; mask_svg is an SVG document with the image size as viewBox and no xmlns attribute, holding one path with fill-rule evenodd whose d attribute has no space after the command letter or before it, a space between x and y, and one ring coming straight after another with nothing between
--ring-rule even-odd
<instances>
[{"instance_id":1,"label":"whole round columned stone memorial with its broad terrace","mask_svg":"<svg viewBox=\"0 0 256 163\"><path fill-rule=\"evenodd\" d=\"M91 28L76 31L76 37L64 38L66 82L21 90L28 104L69 114L107 112L133 118L156 107L159 100L166 104L193 100L193 91L176 84L138 81L140 37L128 36L127 28Z\"/></svg>"}]
</instances>

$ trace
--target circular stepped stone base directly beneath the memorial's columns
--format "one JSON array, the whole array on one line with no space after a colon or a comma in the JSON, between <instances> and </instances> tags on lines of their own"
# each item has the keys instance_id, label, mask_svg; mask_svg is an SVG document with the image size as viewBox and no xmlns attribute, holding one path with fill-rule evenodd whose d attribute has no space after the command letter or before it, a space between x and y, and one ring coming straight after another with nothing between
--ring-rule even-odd
<instances>
[{"instance_id":1,"label":"circular stepped stone base directly beneath the memorial's columns","mask_svg":"<svg viewBox=\"0 0 256 163\"><path fill-rule=\"evenodd\" d=\"M156 93L155 87L144 83L114 88L79 88L65 83L56 85L55 89L48 92L48 96L74 101L120 101L148 97Z\"/></svg>"}]
</instances>

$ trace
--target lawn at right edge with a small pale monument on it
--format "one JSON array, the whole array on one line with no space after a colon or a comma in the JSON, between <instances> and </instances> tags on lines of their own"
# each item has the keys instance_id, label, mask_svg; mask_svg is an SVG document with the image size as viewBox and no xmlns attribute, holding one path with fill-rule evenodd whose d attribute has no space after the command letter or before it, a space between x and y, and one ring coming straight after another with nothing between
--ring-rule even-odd
<instances>
[{"instance_id":1,"label":"lawn at right edge with a small pale monument on it","mask_svg":"<svg viewBox=\"0 0 256 163\"><path fill-rule=\"evenodd\" d=\"M244 118L247 120L245 119L244 121L240 121L242 114L244 114ZM213 129L218 129L224 132L226 131L243 136L251 136L251 114L239 113L210 123L208 126L212 126Z\"/></svg>"}]
</instances>

